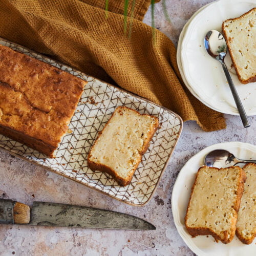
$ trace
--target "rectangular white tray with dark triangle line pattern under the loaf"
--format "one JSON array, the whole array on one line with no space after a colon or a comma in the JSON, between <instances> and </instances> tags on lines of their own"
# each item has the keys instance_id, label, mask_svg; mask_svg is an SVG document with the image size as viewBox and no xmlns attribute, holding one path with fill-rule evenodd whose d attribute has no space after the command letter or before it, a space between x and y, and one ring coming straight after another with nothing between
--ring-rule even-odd
<instances>
[{"instance_id":1,"label":"rectangular white tray with dark triangle line pattern under the loaf","mask_svg":"<svg viewBox=\"0 0 256 256\"><path fill-rule=\"evenodd\" d=\"M69 124L68 133L62 138L57 148L56 158L47 158L4 135L0 135L0 148L29 162L41 165L56 174L101 191L119 201L134 206L142 206L147 203L152 198L179 139L182 119L162 106L87 76L4 38L0 38L0 44L88 81ZM157 116L160 123L131 184L125 187L119 186L109 174L92 171L87 164L88 153L98 132L103 129L115 108L120 105L137 110L141 114Z\"/></svg>"}]
</instances>

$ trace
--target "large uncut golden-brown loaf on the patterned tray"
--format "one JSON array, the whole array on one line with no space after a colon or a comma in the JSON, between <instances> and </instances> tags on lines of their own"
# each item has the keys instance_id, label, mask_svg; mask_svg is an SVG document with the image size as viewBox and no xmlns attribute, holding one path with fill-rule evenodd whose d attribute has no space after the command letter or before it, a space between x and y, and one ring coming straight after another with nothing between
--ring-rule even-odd
<instances>
[{"instance_id":1,"label":"large uncut golden-brown loaf on the patterned tray","mask_svg":"<svg viewBox=\"0 0 256 256\"><path fill-rule=\"evenodd\" d=\"M0 45L0 134L54 157L86 83Z\"/></svg>"}]
</instances>

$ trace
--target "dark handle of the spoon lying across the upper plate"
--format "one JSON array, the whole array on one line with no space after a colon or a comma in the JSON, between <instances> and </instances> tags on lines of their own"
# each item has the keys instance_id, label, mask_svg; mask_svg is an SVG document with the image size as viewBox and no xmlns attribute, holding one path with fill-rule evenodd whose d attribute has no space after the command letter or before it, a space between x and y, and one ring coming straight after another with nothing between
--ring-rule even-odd
<instances>
[{"instance_id":1,"label":"dark handle of the spoon lying across the upper plate","mask_svg":"<svg viewBox=\"0 0 256 256\"><path fill-rule=\"evenodd\" d=\"M244 127L249 127L250 126L250 123L248 121L248 118L247 118L247 115L245 113L245 110L244 110L244 107L243 107L243 104L239 98L239 95L238 95L238 92L237 92L237 89L236 87L234 87L234 84L233 84L233 81L232 81L232 78L228 72L228 69L227 69L227 66L226 64L224 63L224 61L221 61L221 65L222 65L222 68L224 70L224 73L226 75L226 78L227 78L227 81L228 81L228 84L229 84L229 87L230 87L230 90L232 92L232 95L233 95L233 98L234 98L234 101L236 102L236 105L237 105L237 108L238 108L238 112L239 112L239 115L241 117L241 120L243 122L243 125Z\"/></svg>"}]
</instances>

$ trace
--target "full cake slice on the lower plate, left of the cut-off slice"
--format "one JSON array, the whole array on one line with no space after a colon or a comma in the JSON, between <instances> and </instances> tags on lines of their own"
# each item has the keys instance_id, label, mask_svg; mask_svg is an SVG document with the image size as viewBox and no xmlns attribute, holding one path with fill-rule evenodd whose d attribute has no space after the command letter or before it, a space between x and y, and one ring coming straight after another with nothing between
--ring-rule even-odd
<instances>
[{"instance_id":1,"label":"full cake slice on the lower plate, left of the cut-off slice","mask_svg":"<svg viewBox=\"0 0 256 256\"><path fill-rule=\"evenodd\" d=\"M238 166L199 168L185 216L191 236L211 234L224 244L231 242L245 180Z\"/></svg>"}]
</instances>

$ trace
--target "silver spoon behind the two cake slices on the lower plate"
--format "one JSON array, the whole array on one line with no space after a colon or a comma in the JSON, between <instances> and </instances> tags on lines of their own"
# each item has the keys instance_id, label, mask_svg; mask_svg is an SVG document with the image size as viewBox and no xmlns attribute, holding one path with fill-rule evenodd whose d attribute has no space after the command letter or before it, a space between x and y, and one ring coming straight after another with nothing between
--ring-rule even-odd
<instances>
[{"instance_id":1,"label":"silver spoon behind the two cake slices on the lower plate","mask_svg":"<svg viewBox=\"0 0 256 256\"><path fill-rule=\"evenodd\" d=\"M238 163L256 163L255 160L241 160L226 150L214 150L204 158L204 164L211 167L228 167Z\"/></svg>"}]
</instances>

